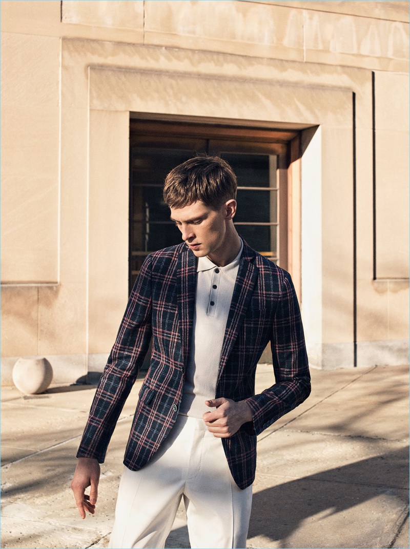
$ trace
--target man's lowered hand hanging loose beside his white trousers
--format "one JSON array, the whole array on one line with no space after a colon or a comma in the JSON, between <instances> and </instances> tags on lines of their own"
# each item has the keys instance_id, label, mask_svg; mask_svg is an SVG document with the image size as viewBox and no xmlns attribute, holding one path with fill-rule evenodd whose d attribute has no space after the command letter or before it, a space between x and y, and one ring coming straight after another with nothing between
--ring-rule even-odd
<instances>
[{"instance_id":1,"label":"man's lowered hand hanging loose beside his white trousers","mask_svg":"<svg viewBox=\"0 0 410 549\"><path fill-rule=\"evenodd\" d=\"M100 480L100 464L93 457L79 457L74 477L71 481L71 490L81 518L86 518L86 511L95 513L95 503L98 495L98 481ZM91 486L90 495L84 494Z\"/></svg>"}]
</instances>

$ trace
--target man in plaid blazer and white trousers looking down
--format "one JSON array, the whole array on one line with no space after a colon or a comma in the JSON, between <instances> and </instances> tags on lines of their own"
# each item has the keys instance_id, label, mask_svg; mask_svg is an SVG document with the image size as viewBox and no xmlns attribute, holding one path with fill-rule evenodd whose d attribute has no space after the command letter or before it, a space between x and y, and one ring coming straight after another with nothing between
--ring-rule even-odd
<instances>
[{"instance_id":1,"label":"man in plaid blazer and white trousers looking down","mask_svg":"<svg viewBox=\"0 0 410 549\"><path fill-rule=\"evenodd\" d=\"M246 547L256 436L310 393L291 277L240 238L235 198L235 174L218 157L187 160L166 178L184 243L141 267L71 485L82 518L94 513L99 463L152 335L110 547L164 547L181 497L191 547ZM269 341L276 383L255 395Z\"/></svg>"}]
</instances>

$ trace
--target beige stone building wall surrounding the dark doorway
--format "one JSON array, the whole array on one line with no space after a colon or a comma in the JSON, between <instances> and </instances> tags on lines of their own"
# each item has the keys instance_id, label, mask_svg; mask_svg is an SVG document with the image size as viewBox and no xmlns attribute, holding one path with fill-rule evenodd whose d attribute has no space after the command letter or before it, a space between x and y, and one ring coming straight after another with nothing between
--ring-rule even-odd
<instances>
[{"instance_id":1,"label":"beige stone building wall surrounding the dark doorway","mask_svg":"<svg viewBox=\"0 0 410 549\"><path fill-rule=\"evenodd\" d=\"M4 382L19 356L47 356L61 382L104 365L127 301L130 112L303 130L309 354L353 366L353 93L358 365L407 361L408 2L1 10Z\"/></svg>"}]
</instances>

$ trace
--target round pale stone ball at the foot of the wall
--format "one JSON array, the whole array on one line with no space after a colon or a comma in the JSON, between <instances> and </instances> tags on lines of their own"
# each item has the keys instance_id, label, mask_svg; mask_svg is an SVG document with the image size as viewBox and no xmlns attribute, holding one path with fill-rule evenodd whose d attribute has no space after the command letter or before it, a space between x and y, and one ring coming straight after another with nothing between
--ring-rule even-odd
<instances>
[{"instance_id":1,"label":"round pale stone ball at the foot of the wall","mask_svg":"<svg viewBox=\"0 0 410 549\"><path fill-rule=\"evenodd\" d=\"M13 383L25 395L43 393L53 379L47 358L19 358L13 366Z\"/></svg>"}]
</instances>

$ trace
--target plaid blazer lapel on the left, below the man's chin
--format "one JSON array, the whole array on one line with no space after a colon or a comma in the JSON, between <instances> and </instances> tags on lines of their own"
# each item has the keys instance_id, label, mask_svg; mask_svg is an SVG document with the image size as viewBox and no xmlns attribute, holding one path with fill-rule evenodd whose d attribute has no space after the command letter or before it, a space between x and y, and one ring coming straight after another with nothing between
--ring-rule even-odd
<instances>
[{"instance_id":1,"label":"plaid blazer lapel on the left, below the man's chin","mask_svg":"<svg viewBox=\"0 0 410 549\"><path fill-rule=\"evenodd\" d=\"M187 365L195 312L196 257L189 249L178 257L177 267L178 316L184 365Z\"/></svg>"}]
</instances>

